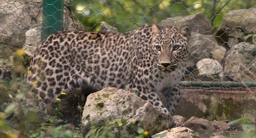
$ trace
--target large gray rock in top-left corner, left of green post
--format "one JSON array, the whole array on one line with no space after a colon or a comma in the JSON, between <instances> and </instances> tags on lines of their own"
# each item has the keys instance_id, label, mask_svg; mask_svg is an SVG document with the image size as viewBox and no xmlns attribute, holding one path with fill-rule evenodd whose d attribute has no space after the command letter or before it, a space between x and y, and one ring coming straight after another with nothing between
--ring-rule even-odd
<instances>
[{"instance_id":1,"label":"large gray rock in top-left corner, left of green post","mask_svg":"<svg viewBox=\"0 0 256 138\"><path fill-rule=\"evenodd\" d=\"M5 45L21 47L25 42L25 32L36 26L36 18L42 0L25 2L4 2L0 6L0 41Z\"/></svg>"}]
</instances>

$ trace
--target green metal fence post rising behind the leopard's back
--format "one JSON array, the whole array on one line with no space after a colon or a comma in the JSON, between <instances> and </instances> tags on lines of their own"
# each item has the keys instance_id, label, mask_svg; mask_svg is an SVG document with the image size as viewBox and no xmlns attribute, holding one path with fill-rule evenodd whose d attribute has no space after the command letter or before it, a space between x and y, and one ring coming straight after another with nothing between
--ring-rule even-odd
<instances>
[{"instance_id":1,"label":"green metal fence post rising behind the leopard's back","mask_svg":"<svg viewBox=\"0 0 256 138\"><path fill-rule=\"evenodd\" d=\"M43 0L41 41L57 31L63 31L63 8L63 0Z\"/></svg>"}]
</instances>

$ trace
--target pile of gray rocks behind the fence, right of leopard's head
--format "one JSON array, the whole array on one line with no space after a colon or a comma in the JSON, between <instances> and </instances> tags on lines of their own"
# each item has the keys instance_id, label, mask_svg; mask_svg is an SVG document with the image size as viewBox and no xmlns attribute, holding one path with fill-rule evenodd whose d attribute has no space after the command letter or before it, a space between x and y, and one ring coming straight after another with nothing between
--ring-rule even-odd
<instances>
[{"instance_id":1,"label":"pile of gray rocks behind the fence, right of leopard's head","mask_svg":"<svg viewBox=\"0 0 256 138\"><path fill-rule=\"evenodd\" d=\"M172 17L160 25L190 25L190 54L184 66L193 73L189 80L251 81L256 80L256 45L248 34L256 34L256 8L230 10L216 33L202 13Z\"/></svg>"}]
</instances>

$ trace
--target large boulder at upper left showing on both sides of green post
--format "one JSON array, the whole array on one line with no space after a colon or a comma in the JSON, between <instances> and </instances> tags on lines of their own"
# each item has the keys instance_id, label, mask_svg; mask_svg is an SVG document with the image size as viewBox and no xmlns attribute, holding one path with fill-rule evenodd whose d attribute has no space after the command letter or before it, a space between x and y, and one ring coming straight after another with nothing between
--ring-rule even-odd
<instances>
[{"instance_id":1,"label":"large boulder at upper left showing on both sides of green post","mask_svg":"<svg viewBox=\"0 0 256 138\"><path fill-rule=\"evenodd\" d=\"M42 0L1 1L0 43L20 49L26 40L25 32L35 27L41 27L41 25ZM84 29L82 23L66 6L64 8L64 29Z\"/></svg>"}]
</instances>

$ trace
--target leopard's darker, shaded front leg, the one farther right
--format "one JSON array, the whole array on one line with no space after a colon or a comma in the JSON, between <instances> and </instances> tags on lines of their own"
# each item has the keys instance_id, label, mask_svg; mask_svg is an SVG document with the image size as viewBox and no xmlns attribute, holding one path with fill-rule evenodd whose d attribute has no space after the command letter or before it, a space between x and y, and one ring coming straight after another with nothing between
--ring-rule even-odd
<instances>
[{"instance_id":1,"label":"leopard's darker, shaded front leg, the one farther right","mask_svg":"<svg viewBox=\"0 0 256 138\"><path fill-rule=\"evenodd\" d=\"M161 92L166 98L166 104L164 106L173 116L180 102L180 89L178 85L174 85L172 87L164 87Z\"/></svg>"}]
</instances>

